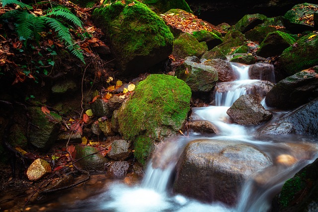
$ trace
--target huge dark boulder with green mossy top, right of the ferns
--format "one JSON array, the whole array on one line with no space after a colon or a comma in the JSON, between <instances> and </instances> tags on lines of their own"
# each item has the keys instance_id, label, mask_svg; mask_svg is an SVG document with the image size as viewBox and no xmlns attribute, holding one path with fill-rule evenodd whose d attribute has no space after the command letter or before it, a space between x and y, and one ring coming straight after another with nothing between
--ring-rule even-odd
<instances>
[{"instance_id":1,"label":"huge dark boulder with green mossy top, right of the ferns","mask_svg":"<svg viewBox=\"0 0 318 212\"><path fill-rule=\"evenodd\" d=\"M97 8L92 18L111 46L122 74L136 74L166 59L173 35L164 21L145 4L126 0Z\"/></svg>"}]
</instances>

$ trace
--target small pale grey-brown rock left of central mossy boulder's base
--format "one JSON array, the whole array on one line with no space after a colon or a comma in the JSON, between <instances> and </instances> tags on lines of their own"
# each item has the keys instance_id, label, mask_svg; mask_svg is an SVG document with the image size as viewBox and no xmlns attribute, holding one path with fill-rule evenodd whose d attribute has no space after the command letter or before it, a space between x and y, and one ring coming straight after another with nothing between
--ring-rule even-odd
<instances>
[{"instance_id":1,"label":"small pale grey-brown rock left of central mossy boulder's base","mask_svg":"<svg viewBox=\"0 0 318 212\"><path fill-rule=\"evenodd\" d=\"M114 160L125 160L131 154L131 142L126 140L115 140L111 144L111 149L107 156Z\"/></svg>"}]
</instances>

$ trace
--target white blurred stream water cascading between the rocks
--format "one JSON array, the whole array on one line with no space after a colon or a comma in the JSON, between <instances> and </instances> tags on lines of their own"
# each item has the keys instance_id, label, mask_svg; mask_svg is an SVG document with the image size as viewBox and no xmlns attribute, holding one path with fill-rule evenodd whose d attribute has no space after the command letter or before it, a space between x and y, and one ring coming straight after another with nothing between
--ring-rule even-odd
<instances>
[{"instance_id":1,"label":"white blurred stream water cascading between the rocks","mask_svg":"<svg viewBox=\"0 0 318 212\"><path fill-rule=\"evenodd\" d=\"M202 137L191 133L188 137L170 138L162 142L149 162L145 177L137 185L108 182L104 190L90 198L80 200L75 206L63 205L59 211L82 212L266 212L270 203L284 182L293 177L300 169L318 157L317 142L312 138L281 136L274 138L254 137L257 127L244 127L229 122L226 111L239 98L246 94L246 85L257 80L248 78L248 66L232 64L240 77L231 82L226 92L216 92L215 106L193 108L192 120L207 120L217 128L217 135ZM227 83L227 82L224 82ZM266 105L264 105L266 107ZM281 115L279 113L279 115ZM202 203L179 194L172 193L175 165L185 145L193 140L236 141L255 146L273 162L259 172L253 173L242 186L236 206L221 202ZM276 161L276 162L275 162ZM277 162L278 161L278 162ZM160 167L160 168L156 168ZM215 191L218 192L218 191ZM66 209L67 208L67 209ZM52 210L55 211L55 210Z\"/></svg>"}]
</instances>

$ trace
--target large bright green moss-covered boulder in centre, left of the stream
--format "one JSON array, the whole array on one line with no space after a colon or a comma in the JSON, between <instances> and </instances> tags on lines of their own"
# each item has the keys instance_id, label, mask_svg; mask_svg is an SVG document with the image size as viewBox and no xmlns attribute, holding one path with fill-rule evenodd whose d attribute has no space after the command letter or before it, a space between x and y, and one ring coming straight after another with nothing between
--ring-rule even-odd
<instances>
[{"instance_id":1,"label":"large bright green moss-covered boulder in centre, left of the stream","mask_svg":"<svg viewBox=\"0 0 318 212\"><path fill-rule=\"evenodd\" d=\"M174 76L151 74L118 112L119 132L133 141L134 155L146 164L154 141L176 135L190 110L191 89Z\"/></svg>"}]
</instances>

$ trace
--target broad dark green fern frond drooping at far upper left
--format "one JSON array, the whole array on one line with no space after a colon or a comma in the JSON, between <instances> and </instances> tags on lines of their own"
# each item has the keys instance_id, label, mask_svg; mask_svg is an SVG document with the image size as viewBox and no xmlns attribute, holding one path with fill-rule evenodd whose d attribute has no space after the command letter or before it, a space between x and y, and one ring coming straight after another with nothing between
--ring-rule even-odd
<instances>
[{"instance_id":1,"label":"broad dark green fern frond drooping at far upper left","mask_svg":"<svg viewBox=\"0 0 318 212\"><path fill-rule=\"evenodd\" d=\"M44 21L37 16L23 11L17 14L16 33L20 40L28 40L44 28Z\"/></svg>"}]
</instances>

